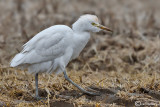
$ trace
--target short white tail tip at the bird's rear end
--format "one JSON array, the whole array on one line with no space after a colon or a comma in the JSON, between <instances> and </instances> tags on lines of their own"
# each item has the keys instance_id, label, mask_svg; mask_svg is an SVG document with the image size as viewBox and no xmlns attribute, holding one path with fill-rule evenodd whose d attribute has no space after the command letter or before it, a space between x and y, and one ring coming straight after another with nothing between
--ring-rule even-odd
<instances>
[{"instance_id":1,"label":"short white tail tip at the bird's rear end","mask_svg":"<svg viewBox=\"0 0 160 107\"><path fill-rule=\"evenodd\" d=\"M11 66L11 67L16 67L16 66L22 64L24 56L25 56L25 55L22 54L22 53L17 54L17 55L12 59L12 61L11 61L11 63L10 63L10 66Z\"/></svg>"}]
</instances>

